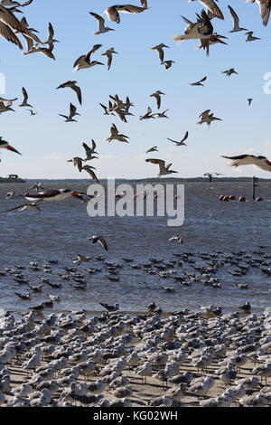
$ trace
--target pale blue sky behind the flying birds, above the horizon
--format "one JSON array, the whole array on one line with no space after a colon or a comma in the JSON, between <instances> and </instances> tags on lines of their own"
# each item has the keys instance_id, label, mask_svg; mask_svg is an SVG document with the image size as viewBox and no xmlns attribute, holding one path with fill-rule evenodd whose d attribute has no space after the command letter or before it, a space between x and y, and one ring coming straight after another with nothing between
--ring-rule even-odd
<instances>
[{"instance_id":1,"label":"pale blue sky behind the flying birds, above the horizon","mask_svg":"<svg viewBox=\"0 0 271 425\"><path fill-rule=\"evenodd\" d=\"M139 0L130 0L140 5ZM123 2L123 4L125 4ZM17 46L0 39L0 82L7 98L18 97L15 112L0 115L0 136L22 153L16 155L1 149L0 175L17 174L22 178L66 179L88 178L86 172L68 163L74 156L84 157L82 142L97 143L99 159L91 162L97 168L98 178L149 178L158 173L158 166L145 162L146 157L164 159L173 163L173 170L184 177L217 172L226 176L253 176L268 178L268 173L245 166L239 173L227 165L221 155L264 155L271 158L270 101L264 87L271 88L265 75L271 72L270 23L262 24L258 6L245 0L220 1L225 20L213 19L214 31L229 37L228 45L210 46L210 57L196 50L197 40L177 44L173 34L181 34L186 26L182 16L195 21L202 5L187 0L149 0L149 9L140 14L120 14L120 24L106 24L116 31L94 35L96 20L89 14L103 14L112 5L104 0L33 0L23 8L30 27L37 29L42 41L53 25L56 61L33 53L23 55ZM254 31L261 40L245 42L246 32L228 33L232 20L228 5L237 12L240 26ZM22 14L23 16L23 14ZM21 17L21 15L18 17ZM23 42L23 37L20 37ZM173 66L165 70L157 52L150 48L164 42L165 60ZM92 60L106 63L101 53L114 47L111 69L97 65L72 72L73 63L87 53L92 45L102 44ZM24 48L24 42L23 42ZM238 75L230 77L221 71L234 68ZM189 83L207 76L205 87ZM268 77L271 79L271 77ZM3 84L5 80L5 87ZM56 90L67 80L77 80L82 90L80 107L76 94L70 89ZM268 85L269 84L269 85ZM1 84L0 84L1 85ZM21 103L22 87L29 94L29 103L38 114L31 117ZM149 95L162 90L161 111L169 109L167 118L139 120L146 109L156 112L154 98ZM271 91L271 90L270 90ZM107 104L109 95L126 96L134 103L127 123L114 116L105 116L99 102ZM252 104L248 107L248 98ZM78 122L66 123L59 114L68 115L70 102L77 108ZM206 109L222 121L214 121L210 128L197 125L199 115ZM115 123L119 132L129 137L129 144L116 140L105 141ZM181 140L189 131L187 146L176 147L167 140ZM151 146L159 151L145 155Z\"/></svg>"}]
</instances>

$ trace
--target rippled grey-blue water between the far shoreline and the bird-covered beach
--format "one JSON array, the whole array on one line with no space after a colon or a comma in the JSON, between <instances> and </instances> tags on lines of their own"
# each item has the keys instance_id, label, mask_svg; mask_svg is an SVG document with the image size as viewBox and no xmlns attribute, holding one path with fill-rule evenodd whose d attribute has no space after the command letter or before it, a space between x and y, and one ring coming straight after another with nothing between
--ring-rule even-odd
<instances>
[{"instance_id":1,"label":"rippled grey-blue water between the far shoreline and the bird-covered beach","mask_svg":"<svg viewBox=\"0 0 271 425\"><path fill-rule=\"evenodd\" d=\"M124 182L122 182L124 183ZM128 183L127 181L125 183ZM132 182L135 184L135 182ZM5 194L14 191L23 194L29 191L30 183L0 184L1 211L19 205L22 199L5 200ZM44 182L46 188L69 187L85 192L89 182L54 181ZM99 302L118 302L122 310L143 311L145 306L154 301L164 311L179 310L183 307L192 310L204 305L220 305L224 310L236 309L241 303L250 301L255 310L270 307L270 277L257 268L251 268L247 275L240 278L230 275L235 266L220 268L214 277L219 278L222 288L203 286L199 282L183 287L172 277L160 278L157 274L147 274L142 269L132 269L129 264L146 264L150 258L162 261L177 260L173 253L190 251L195 260L194 266L206 265L206 260L199 253L221 250L218 258L230 252L246 251L251 257L259 258L252 252L258 245L269 246L270 243L270 195L271 182L260 182L257 194L264 202L251 200L251 183L186 183L185 184L185 221L182 227L168 227L166 217L89 217L86 203L75 198L54 203L41 203L42 212L12 212L0 214L0 270L14 265L28 265L30 261L45 264L45 260L57 259L58 265L52 266L52 272L22 270L23 276L34 285L41 284L38 276L46 276L51 282L62 283L61 289L53 289L43 284L42 294L32 294L31 301L22 301L14 291L28 292L27 285L18 284L12 276L0 277L1 302L5 309L22 310L36 306L47 299L49 294L60 295L61 303L55 304L58 310L85 308L89 311L101 310ZM248 203L222 203L220 194L244 195ZM210 213L217 220L210 218ZM184 243L169 242L174 234L181 233ZM88 237L102 234L107 240L109 250L106 252L97 244L92 244ZM270 262L270 250L265 253L267 266ZM107 279L109 275L105 262L90 260L78 266L79 272L86 275L88 285L85 290L71 287L71 281L61 280L57 274L66 273L63 266L73 266L72 257L77 254L103 256L107 262L122 265L118 282ZM238 256L236 256L238 257ZM126 263L123 258L134 260ZM242 263L241 263L242 264ZM89 274L89 267L101 268L100 272ZM182 276L183 271L199 274L192 269L192 264L183 267L170 266L174 269L172 276ZM75 282L72 282L75 283ZM248 289L239 289L237 283L248 283ZM162 286L175 288L167 293Z\"/></svg>"}]
</instances>

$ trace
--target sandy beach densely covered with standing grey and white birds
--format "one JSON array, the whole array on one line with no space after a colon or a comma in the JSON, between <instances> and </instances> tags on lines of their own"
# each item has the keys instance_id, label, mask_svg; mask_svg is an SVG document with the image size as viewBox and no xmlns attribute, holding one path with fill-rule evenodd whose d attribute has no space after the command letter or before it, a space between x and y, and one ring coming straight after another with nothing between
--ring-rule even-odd
<instances>
[{"instance_id":1,"label":"sandy beach densely covered with standing grey and white birds","mask_svg":"<svg viewBox=\"0 0 271 425\"><path fill-rule=\"evenodd\" d=\"M270 319L211 310L7 314L2 407L270 405Z\"/></svg>"}]
</instances>

